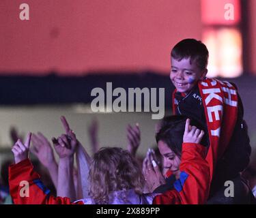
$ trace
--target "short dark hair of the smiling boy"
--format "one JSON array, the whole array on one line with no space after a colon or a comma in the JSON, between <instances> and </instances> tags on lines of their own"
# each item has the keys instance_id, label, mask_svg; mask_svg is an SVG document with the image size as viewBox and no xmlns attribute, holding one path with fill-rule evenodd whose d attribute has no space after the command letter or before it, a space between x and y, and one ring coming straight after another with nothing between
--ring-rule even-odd
<instances>
[{"instance_id":1,"label":"short dark hair of the smiling boy","mask_svg":"<svg viewBox=\"0 0 256 218\"><path fill-rule=\"evenodd\" d=\"M205 69L208 65L209 52L205 44L195 39L185 39L173 47L171 57L177 61L190 58L191 61L196 61L200 69Z\"/></svg>"}]
</instances>

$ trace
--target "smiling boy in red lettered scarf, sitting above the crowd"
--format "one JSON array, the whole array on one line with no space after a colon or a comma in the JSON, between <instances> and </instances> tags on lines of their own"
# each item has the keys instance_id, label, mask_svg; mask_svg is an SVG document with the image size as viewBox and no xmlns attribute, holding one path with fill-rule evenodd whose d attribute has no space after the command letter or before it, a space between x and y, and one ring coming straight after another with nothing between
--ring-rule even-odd
<instances>
[{"instance_id":1,"label":"smiling boy in red lettered scarf, sitting above the crowd","mask_svg":"<svg viewBox=\"0 0 256 218\"><path fill-rule=\"evenodd\" d=\"M225 181L239 178L235 186L244 185L240 172L248 166L251 146L237 88L229 82L206 78L208 57L208 49L202 42L195 39L178 42L171 50L170 78L176 88L173 114L195 119L205 130L212 198L223 189ZM223 197L212 198L212 202L236 202L236 199L220 202Z\"/></svg>"}]
</instances>

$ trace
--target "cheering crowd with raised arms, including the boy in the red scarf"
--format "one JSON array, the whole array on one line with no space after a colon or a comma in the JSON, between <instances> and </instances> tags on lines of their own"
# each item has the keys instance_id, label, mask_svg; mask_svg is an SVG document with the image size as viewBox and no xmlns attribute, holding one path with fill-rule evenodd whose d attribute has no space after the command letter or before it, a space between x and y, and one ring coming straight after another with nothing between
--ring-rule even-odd
<instances>
[{"instance_id":1,"label":"cheering crowd with raised arms, including the boy in the red scarf","mask_svg":"<svg viewBox=\"0 0 256 218\"><path fill-rule=\"evenodd\" d=\"M208 56L206 46L194 39L171 50L173 115L156 125L157 147L149 148L143 161L137 159L138 123L128 125L128 145L122 149L100 148L94 121L93 157L64 116L64 132L52 142L42 133L16 137L8 184L14 204L255 204L242 100L235 84L206 77ZM30 151L48 170L56 194L33 168ZM226 181L233 183L230 195Z\"/></svg>"}]
</instances>

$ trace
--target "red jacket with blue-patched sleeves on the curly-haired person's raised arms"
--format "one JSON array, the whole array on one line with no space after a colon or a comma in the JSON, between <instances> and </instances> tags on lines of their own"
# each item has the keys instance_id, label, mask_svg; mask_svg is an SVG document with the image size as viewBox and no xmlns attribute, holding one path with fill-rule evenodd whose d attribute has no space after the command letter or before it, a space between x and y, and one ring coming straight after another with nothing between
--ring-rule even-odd
<instances>
[{"instance_id":1,"label":"red jacket with blue-patched sleeves on the curly-haired person's raised arms","mask_svg":"<svg viewBox=\"0 0 256 218\"><path fill-rule=\"evenodd\" d=\"M200 144L184 143L180 163L180 179L175 189L154 198L154 204L203 204L208 198L210 170L204 159L205 147ZM29 185L28 195L24 196L25 181ZM200 182L199 182L200 181ZM201 182L203 181L203 182ZM29 159L20 161L9 168L10 194L14 204L83 204L83 201L70 202L69 198L53 197L33 171ZM21 193L21 194L20 194Z\"/></svg>"}]
</instances>

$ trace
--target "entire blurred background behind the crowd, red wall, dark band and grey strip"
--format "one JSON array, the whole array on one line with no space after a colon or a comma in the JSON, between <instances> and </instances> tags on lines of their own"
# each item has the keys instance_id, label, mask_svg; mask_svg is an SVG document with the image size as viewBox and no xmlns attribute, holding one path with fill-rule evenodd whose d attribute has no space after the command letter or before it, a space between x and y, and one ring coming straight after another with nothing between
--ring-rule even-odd
<instances>
[{"instance_id":1,"label":"entire blurred background behind the crowd, red wall, dark band and grey strip","mask_svg":"<svg viewBox=\"0 0 256 218\"><path fill-rule=\"evenodd\" d=\"M20 20L21 3L30 20ZM225 19L226 4L233 20ZM1 0L0 11L0 148L11 146L10 125L52 137L62 131L59 116L68 114L85 142L85 123L98 116L107 145L126 144L124 125L139 122L146 149L154 142L150 116L91 115L83 106L91 89L113 82L126 90L164 87L170 112L170 51L189 37L208 46L208 76L237 84L256 148L255 0Z\"/></svg>"}]
</instances>

